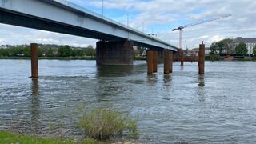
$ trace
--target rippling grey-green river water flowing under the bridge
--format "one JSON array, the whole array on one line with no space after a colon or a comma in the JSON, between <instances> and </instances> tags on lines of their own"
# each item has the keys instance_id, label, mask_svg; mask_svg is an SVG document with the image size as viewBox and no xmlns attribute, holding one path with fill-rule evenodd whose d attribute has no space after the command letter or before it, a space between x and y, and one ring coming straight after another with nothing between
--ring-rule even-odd
<instances>
[{"instance_id":1,"label":"rippling grey-green river water flowing under the bridge","mask_svg":"<svg viewBox=\"0 0 256 144\"><path fill-rule=\"evenodd\" d=\"M147 75L146 63L0 60L0 129L82 137L79 106L114 106L138 119L144 143L256 142L256 62L174 63L174 73Z\"/></svg>"}]
</instances>

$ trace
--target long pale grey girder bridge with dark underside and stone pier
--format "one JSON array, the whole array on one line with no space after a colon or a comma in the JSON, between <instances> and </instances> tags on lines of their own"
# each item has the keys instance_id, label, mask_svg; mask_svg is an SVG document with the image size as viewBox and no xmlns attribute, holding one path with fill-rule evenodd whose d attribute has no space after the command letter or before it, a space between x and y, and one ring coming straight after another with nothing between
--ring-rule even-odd
<instances>
[{"instance_id":1,"label":"long pale grey girder bridge with dark underside and stone pier","mask_svg":"<svg viewBox=\"0 0 256 144\"><path fill-rule=\"evenodd\" d=\"M99 41L97 64L132 65L133 46L177 51L176 46L66 0L0 0L0 22ZM158 52L163 58L162 52Z\"/></svg>"}]
</instances>

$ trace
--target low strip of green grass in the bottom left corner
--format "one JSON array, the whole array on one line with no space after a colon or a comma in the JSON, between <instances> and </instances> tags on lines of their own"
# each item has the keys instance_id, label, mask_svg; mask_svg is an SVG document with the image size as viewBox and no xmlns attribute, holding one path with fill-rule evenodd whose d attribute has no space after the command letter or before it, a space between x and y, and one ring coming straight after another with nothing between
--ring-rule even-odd
<instances>
[{"instance_id":1,"label":"low strip of green grass in the bottom left corner","mask_svg":"<svg viewBox=\"0 0 256 144\"><path fill-rule=\"evenodd\" d=\"M61 138L38 138L34 136L27 136L24 134L12 134L7 131L0 130L0 144L94 144L103 143L92 139L86 139L82 142L74 141L72 139L64 140Z\"/></svg>"}]
</instances>

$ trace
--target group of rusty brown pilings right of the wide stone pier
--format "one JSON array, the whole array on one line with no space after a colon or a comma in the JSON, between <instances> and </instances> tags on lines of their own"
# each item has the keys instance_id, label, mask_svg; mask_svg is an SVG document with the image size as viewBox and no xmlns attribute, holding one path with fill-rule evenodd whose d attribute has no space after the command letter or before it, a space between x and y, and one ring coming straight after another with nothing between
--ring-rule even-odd
<instances>
[{"instance_id":1,"label":"group of rusty brown pilings right of the wide stone pier","mask_svg":"<svg viewBox=\"0 0 256 144\"><path fill-rule=\"evenodd\" d=\"M178 50L180 55L181 66L184 66L184 53L182 50ZM163 50L163 73L170 74L173 72L174 54L170 50ZM205 45L199 45L198 52L198 74L205 73ZM146 51L146 62L147 62L147 74L153 74L158 72L158 51L147 50ZM195 62L195 57L190 58L190 62Z\"/></svg>"}]
</instances>

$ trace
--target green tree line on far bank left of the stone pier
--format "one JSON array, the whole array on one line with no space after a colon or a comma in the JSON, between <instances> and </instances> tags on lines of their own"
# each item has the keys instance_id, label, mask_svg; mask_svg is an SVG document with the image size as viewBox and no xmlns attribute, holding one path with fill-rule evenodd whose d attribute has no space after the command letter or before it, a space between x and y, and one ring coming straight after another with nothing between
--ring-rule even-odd
<instances>
[{"instance_id":1,"label":"green tree line on far bank left of the stone pier","mask_svg":"<svg viewBox=\"0 0 256 144\"><path fill-rule=\"evenodd\" d=\"M0 57L30 57L30 46L10 46L0 49ZM38 45L38 57L95 57L96 50L89 45L86 48L72 48L70 46Z\"/></svg>"}]
</instances>

